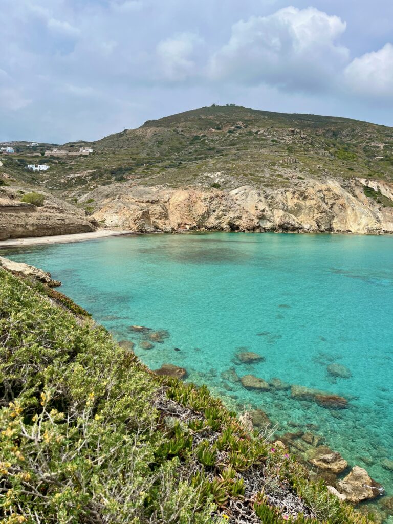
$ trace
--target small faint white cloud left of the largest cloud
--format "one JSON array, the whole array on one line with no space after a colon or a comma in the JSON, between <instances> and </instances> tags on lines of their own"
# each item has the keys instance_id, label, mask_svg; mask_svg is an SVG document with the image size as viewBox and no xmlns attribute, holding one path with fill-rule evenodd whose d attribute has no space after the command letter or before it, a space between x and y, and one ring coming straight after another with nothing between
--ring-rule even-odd
<instances>
[{"instance_id":1,"label":"small faint white cloud left of the largest cloud","mask_svg":"<svg viewBox=\"0 0 393 524\"><path fill-rule=\"evenodd\" d=\"M161 40L156 54L163 77L170 81L184 81L194 75L196 63L192 56L200 43L198 35L187 32Z\"/></svg>"}]
</instances>

